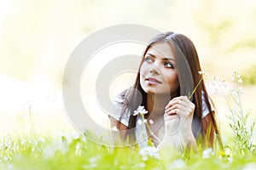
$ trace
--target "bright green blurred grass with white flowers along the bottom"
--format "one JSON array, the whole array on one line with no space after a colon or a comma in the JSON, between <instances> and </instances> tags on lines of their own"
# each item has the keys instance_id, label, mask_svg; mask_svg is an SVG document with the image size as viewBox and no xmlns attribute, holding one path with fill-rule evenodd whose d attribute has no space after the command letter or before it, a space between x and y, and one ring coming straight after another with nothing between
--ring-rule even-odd
<instances>
[{"instance_id":1,"label":"bright green blurred grass with white flowers along the bottom","mask_svg":"<svg viewBox=\"0 0 256 170\"><path fill-rule=\"evenodd\" d=\"M230 146L224 152L199 150L181 154L172 148L160 150L160 159L139 150L110 148L95 144L83 136L45 139L40 136L13 139L5 136L1 143L1 169L242 169L256 166L256 157L247 150L238 154ZM227 146L227 145L226 145ZM235 148L234 148L235 149ZM236 153L236 155L234 155ZM253 164L254 163L254 164Z\"/></svg>"}]
</instances>

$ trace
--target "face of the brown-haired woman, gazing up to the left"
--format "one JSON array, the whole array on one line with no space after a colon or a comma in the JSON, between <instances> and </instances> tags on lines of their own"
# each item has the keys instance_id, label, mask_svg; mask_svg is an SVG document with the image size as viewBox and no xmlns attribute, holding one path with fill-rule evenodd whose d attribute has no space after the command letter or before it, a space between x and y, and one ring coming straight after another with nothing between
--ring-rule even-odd
<instances>
[{"instance_id":1,"label":"face of the brown-haired woman, gazing up to the left","mask_svg":"<svg viewBox=\"0 0 256 170\"><path fill-rule=\"evenodd\" d=\"M147 94L177 96L179 82L175 59L167 42L156 42L148 48L140 70L140 83Z\"/></svg>"}]
</instances>

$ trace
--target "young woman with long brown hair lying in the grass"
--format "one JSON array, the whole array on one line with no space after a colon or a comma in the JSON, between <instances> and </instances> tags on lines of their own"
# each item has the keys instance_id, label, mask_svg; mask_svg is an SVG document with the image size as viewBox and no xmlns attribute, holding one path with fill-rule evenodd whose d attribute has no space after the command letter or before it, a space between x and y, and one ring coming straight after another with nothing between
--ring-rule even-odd
<instances>
[{"instance_id":1,"label":"young woman with long brown hair lying in the grass","mask_svg":"<svg viewBox=\"0 0 256 170\"><path fill-rule=\"evenodd\" d=\"M133 87L113 101L111 127L129 144L143 142L139 138L142 123L134 114L143 105L148 111L144 115L147 137L155 146L213 147L214 137L219 139L218 127L199 71L198 55L188 37L174 32L153 37Z\"/></svg>"}]
</instances>

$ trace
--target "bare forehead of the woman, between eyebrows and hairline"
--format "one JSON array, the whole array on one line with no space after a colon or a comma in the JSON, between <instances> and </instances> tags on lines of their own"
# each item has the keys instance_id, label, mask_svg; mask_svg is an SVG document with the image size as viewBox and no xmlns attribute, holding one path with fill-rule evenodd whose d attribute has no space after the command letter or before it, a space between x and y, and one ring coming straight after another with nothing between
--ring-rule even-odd
<instances>
[{"instance_id":1,"label":"bare forehead of the woman, between eyebrows and hairline","mask_svg":"<svg viewBox=\"0 0 256 170\"><path fill-rule=\"evenodd\" d=\"M155 42L148 48L147 53L154 54L156 56L164 58L174 58L174 51L172 49L171 44L168 42Z\"/></svg>"}]
</instances>

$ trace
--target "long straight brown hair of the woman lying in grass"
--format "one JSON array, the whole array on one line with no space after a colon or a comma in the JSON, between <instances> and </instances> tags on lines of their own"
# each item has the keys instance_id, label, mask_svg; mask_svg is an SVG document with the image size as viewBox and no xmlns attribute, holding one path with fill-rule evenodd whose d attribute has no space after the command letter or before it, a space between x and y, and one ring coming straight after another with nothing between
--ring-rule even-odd
<instances>
[{"instance_id":1,"label":"long straight brown hair of the woman lying in grass","mask_svg":"<svg viewBox=\"0 0 256 170\"><path fill-rule=\"evenodd\" d=\"M143 53L143 57L148 51L148 48L152 47L156 42L167 42L170 44L170 47L173 49L176 55L176 69L177 76L180 84L179 95L189 95L192 93L195 86L200 82L198 87L193 94L193 97L190 99L195 104L195 112L192 122L192 131L195 138L198 138L203 130L206 130L207 127L202 127L202 96L205 99L207 104L207 109L209 111L209 116L211 116L211 125L215 134L217 134L218 141L221 143L219 138L218 127L216 124L216 119L214 116L214 111L212 111L212 106L210 105L209 97L205 87L204 80L201 80L202 75L198 73L201 71L201 65L196 52L193 42L185 37L183 34L178 34L172 31L161 33L153 37L149 42L148 46ZM140 69L143 65L143 59L139 66L139 71L137 72L136 81L130 89L126 91L125 94L125 104L122 110L122 114L125 114L125 111L130 111L130 119L128 124L128 129L131 130L136 127L136 118L132 113L137 109L138 105L146 105L147 94L143 91L140 83ZM129 140L134 141L134 131L128 131Z\"/></svg>"}]
</instances>

